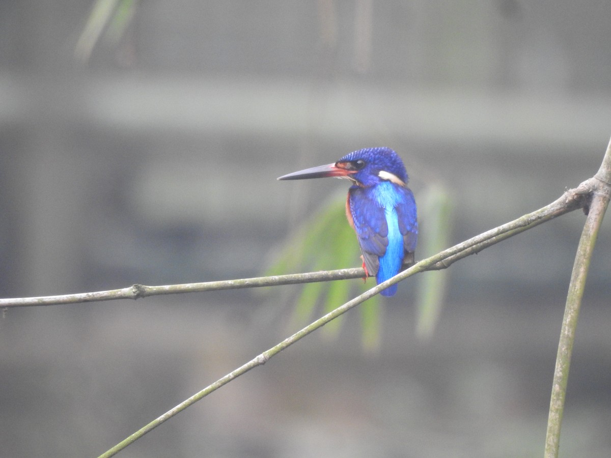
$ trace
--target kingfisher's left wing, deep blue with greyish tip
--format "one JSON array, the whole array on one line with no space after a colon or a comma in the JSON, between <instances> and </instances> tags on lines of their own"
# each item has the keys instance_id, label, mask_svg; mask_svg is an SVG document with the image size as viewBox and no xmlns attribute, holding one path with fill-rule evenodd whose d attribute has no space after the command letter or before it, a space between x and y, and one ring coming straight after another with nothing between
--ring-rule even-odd
<instances>
[{"instance_id":1,"label":"kingfisher's left wing, deep blue with greyish tip","mask_svg":"<svg viewBox=\"0 0 611 458\"><path fill-rule=\"evenodd\" d=\"M378 273L378 258L384 256L388 245L384 208L376 205L375 200L360 187L350 189L348 202L367 273L374 276Z\"/></svg>"}]
</instances>

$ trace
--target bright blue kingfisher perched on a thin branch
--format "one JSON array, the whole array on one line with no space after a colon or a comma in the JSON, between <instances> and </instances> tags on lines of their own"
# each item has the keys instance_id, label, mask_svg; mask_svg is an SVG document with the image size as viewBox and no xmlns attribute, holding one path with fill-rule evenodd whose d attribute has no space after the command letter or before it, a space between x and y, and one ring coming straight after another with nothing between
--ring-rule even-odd
<instances>
[{"instance_id":1,"label":"bright blue kingfisher perched on a thin branch","mask_svg":"<svg viewBox=\"0 0 611 458\"><path fill-rule=\"evenodd\" d=\"M346 217L356 232L365 278L382 283L414 262L418 236L416 203L407 186L408 173L395 151L386 147L348 153L334 164L299 170L278 180L305 180L335 176L352 186L346 198ZM393 296L397 285L381 291Z\"/></svg>"}]
</instances>

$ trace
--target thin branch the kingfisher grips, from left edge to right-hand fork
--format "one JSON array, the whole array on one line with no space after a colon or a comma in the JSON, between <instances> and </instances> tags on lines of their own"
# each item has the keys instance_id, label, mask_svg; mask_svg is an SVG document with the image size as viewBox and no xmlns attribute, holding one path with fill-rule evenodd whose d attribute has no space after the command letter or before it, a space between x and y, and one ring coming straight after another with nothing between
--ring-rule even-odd
<instances>
[{"instance_id":1,"label":"thin branch the kingfisher grips, from left edge to right-hand fork","mask_svg":"<svg viewBox=\"0 0 611 458\"><path fill-rule=\"evenodd\" d=\"M417 272L441 270L449 267L466 256L473 255L491 245L510 238L522 231L533 228L550 219L561 216L577 208L587 206L588 195L599 183L595 178L584 181L575 189L569 189L560 198L532 213L519 217L502 226L486 231L453 247L420 261L406 271L387 280L386 286L400 282ZM159 296L162 294L201 293L221 289L259 288L262 286L293 285L297 283L330 282L362 278L364 269L340 269L336 271L307 272L305 274L273 275L270 277L241 278L239 280L221 280L218 282L184 283L181 285L133 285L127 288L95 291L92 293L63 294L60 296L18 297L0 299L0 308L34 307L38 305L80 304L83 302L100 302L117 299L139 299L141 297Z\"/></svg>"}]
</instances>

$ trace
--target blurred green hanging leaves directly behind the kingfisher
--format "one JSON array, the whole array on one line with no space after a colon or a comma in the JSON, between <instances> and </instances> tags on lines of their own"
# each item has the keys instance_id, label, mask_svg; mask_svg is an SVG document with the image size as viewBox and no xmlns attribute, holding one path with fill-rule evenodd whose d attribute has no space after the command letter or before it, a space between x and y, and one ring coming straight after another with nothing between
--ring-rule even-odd
<instances>
[{"instance_id":1,"label":"blurred green hanging leaves directly behind the kingfisher","mask_svg":"<svg viewBox=\"0 0 611 458\"><path fill-rule=\"evenodd\" d=\"M343 196L343 194L342 194ZM451 200L442 186L427 187L417 196L420 241L417 254L433 255L447 247L451 230ZM422 222L425 222L423 225ZM426 228L426 234L422 233ZM283 275L299 271L326 271L360 265L360 250L353 229L346 222L345 197L333 197L321 205L285 241L282 249L266 272ZM422 256L419 256L422 258ZM433 333L445 296L445 271L425 272L420 277L417 300L417 334L426 337ZM374 279L365 282L307 283L301 289L291 323L304 325L312 321L318 304L324 313L348 302L357 294L370 289ZM364 302L360 310L361 340L366 351L375 351L380 343L380 296ZM324 335L337 336L341 319L323 328Z\"/></svg>"}]
</instances>

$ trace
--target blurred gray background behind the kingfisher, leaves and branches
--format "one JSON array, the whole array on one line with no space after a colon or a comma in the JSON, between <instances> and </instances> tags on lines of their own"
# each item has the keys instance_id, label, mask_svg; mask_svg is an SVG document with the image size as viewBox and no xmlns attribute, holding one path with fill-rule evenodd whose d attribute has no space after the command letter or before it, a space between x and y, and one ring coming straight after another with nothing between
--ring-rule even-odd
<instances>
[{"instance_id":1,"label":"blurred gray background behind the kingfisher, leaves and branches","mask_svg":"<svg viewBox=\"0 0 611 458\"><path fill-rule=\"evenodd\" d=\"M262 275L347 188L276 177L375 145L417 198L447 189L459 242L592 176L611 135L608 1L142 1L89 53L92 5L0 4L2 297ZM454 264L430 340L408 280L377 352L353 311L337 340L310 335L120 456L541 456L583 222ZM563 457L611 456L609 228ZM5 311L0 455L103 453L295 332L298 291Z\"/></svg>"}]
</instances>

